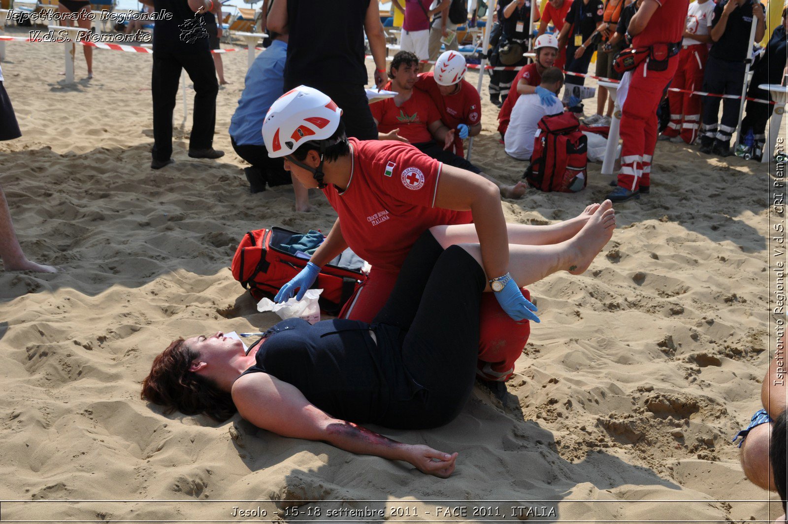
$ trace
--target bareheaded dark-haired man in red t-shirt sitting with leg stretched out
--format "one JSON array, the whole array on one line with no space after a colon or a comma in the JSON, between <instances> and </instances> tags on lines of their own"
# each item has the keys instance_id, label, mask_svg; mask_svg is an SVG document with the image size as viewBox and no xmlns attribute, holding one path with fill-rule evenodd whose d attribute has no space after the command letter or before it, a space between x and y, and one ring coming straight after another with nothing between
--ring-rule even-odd
<instances>
[{"instance_id":1,"label":"bareheaded dark-haired man in red t-shirt sitting with leg stretched out","mask_svg":"<svg viewBox=\"0 0 788 524\"><path fill-rule=\"evenodd\" d=\"M429 95L414 89L418 80L418 57L415 54L410 51L395 54L388 76L391 81L386 84L385 89L394 91L397 95L370 105L380 140L400 140L413 144L433 159L481 174L498 186L504 198L522 197L526 192L524 183L504 185L452 152L455 129L449 129L441 122L438 108Z\"/></svg>"}]
</instances>

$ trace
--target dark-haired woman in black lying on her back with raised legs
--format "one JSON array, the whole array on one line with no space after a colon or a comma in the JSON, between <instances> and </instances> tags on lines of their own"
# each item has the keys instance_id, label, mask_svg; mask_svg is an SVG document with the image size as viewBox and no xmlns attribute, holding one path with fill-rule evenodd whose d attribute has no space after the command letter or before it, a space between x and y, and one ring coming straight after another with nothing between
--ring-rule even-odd
<instances>
[{"instance_id":1,"label":"dark-haired woman in black lying on her back with raised legs","mask_svg":"<svg viewBox=\"0 0 788 524\"><path fill-rule=\"evenodd\" d=\"M470 396L479 303L490 286L478 244L444 249L437 239L447 241L455 227L466 226L438 226L416 241L372 324L284 320L248 355L239 340L221 332L177 339L155 358L142 398L217 420L237 409L281 436L322 440L448 477L456 453L400 444L356 424L434 428L452 421ZM556 271L579 275L614 228L615 212L606 200L570 240L511 245L507 275L519 286Z\"/></svg>"}]
</instances>

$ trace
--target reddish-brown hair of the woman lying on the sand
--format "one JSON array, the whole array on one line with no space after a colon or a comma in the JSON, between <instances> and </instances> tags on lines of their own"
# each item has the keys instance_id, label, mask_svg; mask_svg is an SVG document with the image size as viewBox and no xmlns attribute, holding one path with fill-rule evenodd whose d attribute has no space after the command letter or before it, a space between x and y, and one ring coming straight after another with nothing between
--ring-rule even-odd
<instances>
[{"instance_id":1,"label":"reddish-brown hair of the woman lying on the sand","mask_svg":"<svg viewBox=\"0 0 788 524\"><path fill-rule=\"evenodd\" d=\"M184 339L173 340L154 358L139 396L165 406L167 414L175 410L185 415L204 413L220 422L232 417L236 412L232 395L221 391L212 380L189 371L191 361L197 357L199 353L187 346Z\"/></svg>"}]
</instances>

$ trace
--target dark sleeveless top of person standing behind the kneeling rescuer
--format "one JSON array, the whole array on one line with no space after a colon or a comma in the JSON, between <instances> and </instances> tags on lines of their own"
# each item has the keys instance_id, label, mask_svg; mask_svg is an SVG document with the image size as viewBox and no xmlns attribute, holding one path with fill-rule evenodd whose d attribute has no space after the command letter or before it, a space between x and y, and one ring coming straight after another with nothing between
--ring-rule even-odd
<instances>
[{"instance_id":1,"label":"dark sleeveless top of person standing behind the kneeling rescuer","mask_svg":"<svg viewBox=\"0 0 788 524\"><path fill-rule=\"evenodd\" d=\"M366 85L364 19L370 0L290 0L284 84Z\"/></svg>"}]
</instances>

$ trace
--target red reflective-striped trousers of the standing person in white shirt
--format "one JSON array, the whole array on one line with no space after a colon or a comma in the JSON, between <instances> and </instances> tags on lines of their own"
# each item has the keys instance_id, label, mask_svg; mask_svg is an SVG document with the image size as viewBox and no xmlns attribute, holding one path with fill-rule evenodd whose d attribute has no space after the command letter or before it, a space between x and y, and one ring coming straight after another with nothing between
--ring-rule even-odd
<instances>
[{"instance_id":1,"label":"red reflective-striped trousers of the standing person in white shirt","mask_svg":"<svg viewBox=\"0 0 788 524\"><path fill-rule=\"evenodd\" d=\"M673 77L671 88L699 91L703 87L703 74L708 58L705 43L682 47L678 53L678 69ZM701 127L701 96L689 93L668 92L671 101L671 123L663 131L666 137L678 137L687 144L693 144Z\"/></svg>"}]
</instances>

